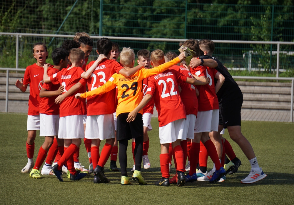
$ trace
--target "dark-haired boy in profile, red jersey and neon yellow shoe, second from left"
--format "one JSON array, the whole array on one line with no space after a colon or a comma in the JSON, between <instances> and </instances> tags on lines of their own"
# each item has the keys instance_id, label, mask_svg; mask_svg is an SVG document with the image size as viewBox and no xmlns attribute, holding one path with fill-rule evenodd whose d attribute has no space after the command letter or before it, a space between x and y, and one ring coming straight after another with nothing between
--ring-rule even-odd
<instances>
[{"instance_id":1,"label":"dark-haired boy in profile, red jersey and neon yellow shoe, second from left","mask_svg":"<svg viewBox=\"0 0 294 205\"><path fill-rule=\"evenodd\" d=\"M56 48L52 52L54 66L49 67L48 75L52 76L53 74L61 71L61 69L66 68L68 64L68 56L69 52L67 52L65 49ZM45 136L45 141L40 147L36 163L30 173L30 177L32 178L41 178L39 171L40 167L47 156L49 148L53 144L54 136L57 137L58 135L59 104L55 104L54 101L55 96L62 94L63 90L64 88L63 86L60 87L60 84L53 85L52 83L44 83L42 89L40 90L40 136ZM61 146L62 143L64 143L64 141L59 140L59 146ZM45 173L46 170L51 170L51 165L52 161L50 164L45 163L42 169L43 175L53 175L52 171L51 174L50 171Z\"/></svg>"}]
</instances>

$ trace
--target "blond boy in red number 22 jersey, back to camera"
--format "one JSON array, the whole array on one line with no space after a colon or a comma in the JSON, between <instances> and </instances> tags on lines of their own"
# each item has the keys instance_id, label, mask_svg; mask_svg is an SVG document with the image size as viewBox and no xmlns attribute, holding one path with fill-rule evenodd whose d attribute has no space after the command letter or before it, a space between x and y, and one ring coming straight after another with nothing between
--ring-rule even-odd
<instances>
[{"instance_id":1,"label":"blond boy in red number 22 jersey, back to camera","mask_svg":"<svg viewBox=\"0 0 294 205\"><path fill-rule=\"evenodd\" d=\"M181 53L182 55L184 53ZM163 51L156 49L151 52L151 65L160 66L165 62ZM148 79L147 93L140 104L129 113L127 121L131 122L135 119L137 113L147 104L153 97L158 112L159 121L159 139L161 144L160 165L162 178L155 185L169 186L169 144L172 143L176 161L178 186L185 184L185 164L184 154L181 148L181 140L186 140L186 112L185 106L179 95L178 83L190 83L197 85L205 85L209 83L209 79L198 81L194 78L187 78L178 71L169 69L162 74L156 74ZM174 112L174 111L177 112Z\"/></svg>"}]
</instances>

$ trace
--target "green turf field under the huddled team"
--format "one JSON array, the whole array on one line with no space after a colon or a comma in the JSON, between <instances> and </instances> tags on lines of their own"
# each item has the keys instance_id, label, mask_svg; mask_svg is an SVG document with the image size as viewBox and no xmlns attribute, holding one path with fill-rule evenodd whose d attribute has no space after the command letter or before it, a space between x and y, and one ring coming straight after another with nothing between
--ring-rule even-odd
<instances>
[{"instance_id":1,"label":"green turf field under the huddled team","mask_svg":"<svg viewBox=\"0 0 294 205\"><path fill-rule=\"evenodd\" d=\"M278 122L242 122L242 132L250 141L259 165L268 175L254 184L241 184L250 171L250 164L240 148L229 139L236 155L242 161L238 172L228 175L222 183L186 183L184 187L171 185L157 187L154 182L161 178L158 139L158 122L152 119L153 131L148 132L150 147L148 151L151 168L142 175L147 186L120 185L120 172L109 171L105 165L105 175L109 184L94 184L93 175L80 181L71 182L64 175L64 182L55 176L32 179L21 173L27 163L26 156L26 118L25 114L0 113L0 204L293 204L294 199L294 124ZM35 155L43 137L35 141ZM101 145L104 143L101 142ZM128 147L129 176L133 166L131 141ZM100 149L101 151L101 149ZM88 168L89 161L84 145L80 149L80 162ZM119 163L117 162L119 166ZM209 159L208 169L212 168ZM173 167L173 174L175 169Z\"/></svg>"}]
</instances>

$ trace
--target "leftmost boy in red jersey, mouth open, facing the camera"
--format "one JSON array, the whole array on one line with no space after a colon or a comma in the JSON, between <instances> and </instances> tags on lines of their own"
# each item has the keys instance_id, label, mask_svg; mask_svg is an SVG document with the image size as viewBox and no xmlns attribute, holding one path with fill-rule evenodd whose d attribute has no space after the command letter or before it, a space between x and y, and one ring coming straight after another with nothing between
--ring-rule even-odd
<instances>
[{"instance_id":1,"label":"leftmost boy in red jersey, mouth open, facing the camera","mask_svg":"<svg viewBox=\"0 0 294 205\"><path fill-rule=\"evenodd\" d=\"M28 84L30 84L29 111L27 121L28 137L26 140L28 163L24 168L22 168L21 172L23 173L30 172L31 168L34 167L34 141L36 138L36 131L40 129L39 93L42 88L44 73L43 66L46 64L46 59L48 58L46 45L42 42L34 44L33 55L37 62L28 66L24 72L24 78L21 78L21 81L17 79L15 83L15 86L23 93L26 91Z\"/></svg>"}]
</instances>

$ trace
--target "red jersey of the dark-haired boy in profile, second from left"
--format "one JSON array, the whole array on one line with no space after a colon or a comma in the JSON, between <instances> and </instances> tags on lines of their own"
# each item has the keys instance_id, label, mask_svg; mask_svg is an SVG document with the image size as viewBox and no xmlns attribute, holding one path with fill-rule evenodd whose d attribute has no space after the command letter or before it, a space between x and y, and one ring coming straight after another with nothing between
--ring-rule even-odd
<instances>
[{"instance_id":1,"label":"red jersey of the dark-haired boy in profile, second from left","mask_svg":"<svg viewBox=\"0 0 294 205\"><path fill-rule=\"evenodd\" d=\"M52 76L53 74L59 72L60 70L49 67L47 74L48 76ZM60 84L52 84L52 83L44 83L43 88L49 91L58 90ZM52 96L49 98L41 98L40 100L40 113L46 115L59 115L59 104L55 103L55 99L57 96Z\"/></svg>"}]
</instances>

